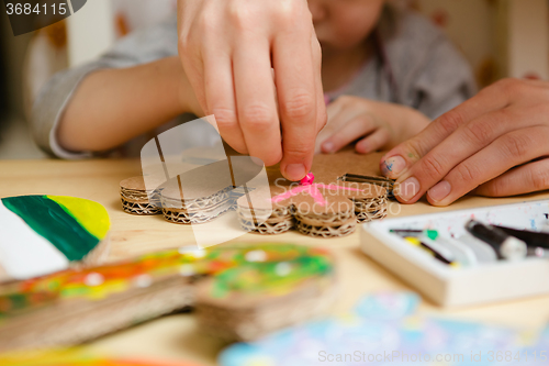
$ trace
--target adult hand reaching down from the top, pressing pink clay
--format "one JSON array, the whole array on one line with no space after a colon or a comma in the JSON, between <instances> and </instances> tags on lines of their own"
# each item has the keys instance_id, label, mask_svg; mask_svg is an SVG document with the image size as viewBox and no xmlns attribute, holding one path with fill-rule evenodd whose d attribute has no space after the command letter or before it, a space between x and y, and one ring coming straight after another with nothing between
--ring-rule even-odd
<instances>
[{"instance_id":1,"label":"adult hand reaching down from the top, pressing pink clay","mask_svg":"<svg viewBox=\"0 0 549 366\"><path fill-rule=\"evenodd\" d=\"M179 55L206 115L237 152L299 180L326 111L306 0L178 0Z\"/></svg>"}]
</instances>

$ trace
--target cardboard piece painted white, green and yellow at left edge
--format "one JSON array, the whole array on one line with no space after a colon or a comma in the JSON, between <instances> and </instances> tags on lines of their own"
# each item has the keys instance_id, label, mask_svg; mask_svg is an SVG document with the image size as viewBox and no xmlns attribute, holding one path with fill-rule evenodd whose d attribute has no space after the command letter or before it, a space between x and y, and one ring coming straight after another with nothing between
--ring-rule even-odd
<instances>
[{"instance_id":1,"label":"cardboard piece painted white, green and yellow at left edge","mask_svg":"<svg viewBox=\"0 0 549 366\"><path fill-rule=\"evenodd\" d=\"M0 282L99 265L109 249L110 219L101 204L75 197L0 200Z\"/></svg>"}]
</instances>

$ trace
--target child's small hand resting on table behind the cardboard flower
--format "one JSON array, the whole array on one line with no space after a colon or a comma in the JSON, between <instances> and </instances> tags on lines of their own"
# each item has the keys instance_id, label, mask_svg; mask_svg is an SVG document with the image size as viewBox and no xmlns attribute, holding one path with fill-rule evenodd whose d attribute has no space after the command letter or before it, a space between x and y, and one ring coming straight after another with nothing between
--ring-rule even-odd
<instances>
[{"instance_id":1,"label":"child's small hand resting on table behind the cardboard flower","mask_svg":"<svg viewBox=\"0 0 549 366\"><path fill-rule=\"evenodd\" d=\"M429 120L393 103L344 96L328 106L328 123L318 133L316 153L335 153L351 142L360 154L391 148L419 133Z\"/></svg>"}]
</instances>

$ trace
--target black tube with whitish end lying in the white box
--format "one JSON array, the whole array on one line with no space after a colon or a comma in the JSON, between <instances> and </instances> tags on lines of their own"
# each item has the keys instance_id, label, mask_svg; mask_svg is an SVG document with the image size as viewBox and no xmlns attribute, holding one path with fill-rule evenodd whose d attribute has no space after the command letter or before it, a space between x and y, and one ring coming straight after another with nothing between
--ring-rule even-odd
<instances>
[{"instance_id":1,"label":"black tube with whitish end lying in the white box","mask_svg":"<svg viewBox=\"0 0 549 366\"><path fill-rule=\"evenodd\" d=\"M473 236L492 246L500 259L517 260L525 258L527 255L525 242L506 234L497 228L471 220L466 224L466 229Z\"/></svg>"}]
</instances>

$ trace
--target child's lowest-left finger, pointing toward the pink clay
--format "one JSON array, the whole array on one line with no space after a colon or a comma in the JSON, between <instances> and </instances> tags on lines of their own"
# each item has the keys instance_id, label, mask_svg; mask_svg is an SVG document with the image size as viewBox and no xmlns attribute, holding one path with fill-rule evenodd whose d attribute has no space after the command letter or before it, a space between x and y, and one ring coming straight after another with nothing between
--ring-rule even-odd
<instances>
[{"instance_id":1,"label":"child's lowest-left finger, pointing toward the pink clay","mask_svg":"<svg viewBox=\"0 0 549 366\"><path fill-rule=\"evenodd\" d=\"M362 114L347 120L348 122L336 122L340 127L326 140L321 148L323 153L329 154L339 151L355 140L378 129L376 122L368 114Z\"/></svg>"}]
</instances>

